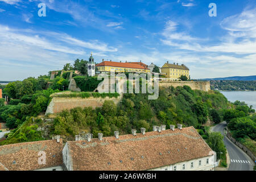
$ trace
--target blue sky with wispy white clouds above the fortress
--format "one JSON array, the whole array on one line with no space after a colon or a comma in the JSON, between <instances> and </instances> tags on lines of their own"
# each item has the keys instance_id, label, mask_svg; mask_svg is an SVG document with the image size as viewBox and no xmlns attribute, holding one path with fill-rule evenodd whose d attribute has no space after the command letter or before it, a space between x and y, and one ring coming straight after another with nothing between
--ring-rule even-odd
<instances>
[{"instance_id":1,"label":"blue sky with wispy white clouds above the fortress","mask_svg":"<svg viewBox=\"0 0 256 182\"><path fill-rule=\"evenodd\" d=\"M191 78L256 75L256 1L0 0L0 80L46 75L91 51L97 63L185 64Z\"/></svg>"}]
</instances>

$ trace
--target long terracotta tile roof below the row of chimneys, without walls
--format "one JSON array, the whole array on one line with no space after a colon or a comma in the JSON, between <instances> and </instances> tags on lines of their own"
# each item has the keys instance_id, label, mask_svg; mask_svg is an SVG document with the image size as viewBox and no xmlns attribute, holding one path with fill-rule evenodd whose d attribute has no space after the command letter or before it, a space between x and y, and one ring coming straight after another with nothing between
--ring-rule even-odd
<instances>
[{"instance_id":1,"label":"long terracotta tile roof below the row of chimneys, without walls","mask_svg":"<svg viewBox=\"0 0 256 182\"><path fill-rule=\"evenodd\" d=\"M212 151L194 127L69 141L68 147L74 171L146 170L203 158Z\"/></svg>"}]
</instances>

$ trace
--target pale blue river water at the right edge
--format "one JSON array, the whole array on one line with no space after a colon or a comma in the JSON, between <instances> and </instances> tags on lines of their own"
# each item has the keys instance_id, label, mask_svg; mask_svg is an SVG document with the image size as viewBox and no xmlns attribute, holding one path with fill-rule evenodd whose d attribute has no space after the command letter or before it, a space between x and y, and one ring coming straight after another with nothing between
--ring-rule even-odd
<instances>
[{"instance_id":1,"label":"pale blue river water at the right edge","mask_svg":"<svg viewBox=\"0 0 256 182\"><path fill-rule=\"evenodd\" d=\"M221 91L228 101L244 101L248 106L252 105L256 110L256 91Z\"/></svg>"}]
</instances>

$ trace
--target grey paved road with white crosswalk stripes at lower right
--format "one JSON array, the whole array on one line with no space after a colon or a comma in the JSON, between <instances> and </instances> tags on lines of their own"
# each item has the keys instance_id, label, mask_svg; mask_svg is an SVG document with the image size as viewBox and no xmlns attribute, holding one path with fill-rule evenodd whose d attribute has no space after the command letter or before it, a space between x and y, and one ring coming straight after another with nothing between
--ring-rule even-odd
<instances>
[{"instance_id":1,"label":"grey paved road with white crosswalk stripes at lower right","mask_svg":"<svg viewBox=\"0 0 256 182\"><path fill-rule=\"evenodd\" d=\"M216 126L212 127L212 131L220 132L224 135L224 127L226 127L226 122L222 122ZM236 144L231 142L226 136L224 136L224 143L226 149L229 152L230 166L229 171L252 171L254 162L251 158L241 150Z\"/></svg>"}]
</instances>

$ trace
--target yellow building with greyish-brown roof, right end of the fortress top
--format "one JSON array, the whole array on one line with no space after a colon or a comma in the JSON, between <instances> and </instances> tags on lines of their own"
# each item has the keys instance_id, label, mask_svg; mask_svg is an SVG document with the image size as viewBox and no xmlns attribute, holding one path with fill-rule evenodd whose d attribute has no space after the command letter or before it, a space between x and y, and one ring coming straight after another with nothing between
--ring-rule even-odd
<instances>
[{"instance_id":1,"label":"yellow building with greyish-brown roof, right end of the fortress top","mask_svg":"<svg viewBox=\"0 0 256 182\"><path fill-rule=\"evenodd\" d=\"M166 73L167 78L177 79L181 75L187 76L189 78L189 69L184 64L169 64L168 61L161 68L162 73Z\"/></svg>"}]
</instances>

